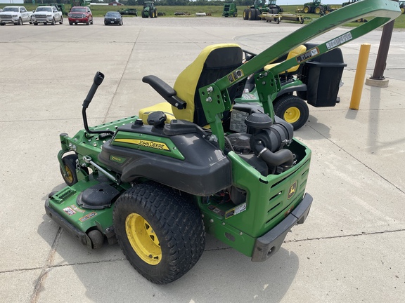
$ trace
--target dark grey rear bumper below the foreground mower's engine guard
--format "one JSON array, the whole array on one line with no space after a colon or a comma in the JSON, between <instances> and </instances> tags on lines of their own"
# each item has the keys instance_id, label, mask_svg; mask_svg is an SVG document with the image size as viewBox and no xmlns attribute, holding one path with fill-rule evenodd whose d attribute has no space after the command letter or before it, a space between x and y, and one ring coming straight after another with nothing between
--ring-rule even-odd
<instances>
[{"instance_id":1,"label":"dark grey rear bumper below the foreground mower's engine guard","mask_svg":"<svg viewBox=\"0 0 405 303\"><path fill-rule=\"evenodd\" d=\"M252 262L263 262L274 255L284 242L288 231L296 224L302 224L307 219L313 198L305 194L301 203L290 215L285 217L274 229L256 239L252 253Z\"/></svg>"}]
</instances>

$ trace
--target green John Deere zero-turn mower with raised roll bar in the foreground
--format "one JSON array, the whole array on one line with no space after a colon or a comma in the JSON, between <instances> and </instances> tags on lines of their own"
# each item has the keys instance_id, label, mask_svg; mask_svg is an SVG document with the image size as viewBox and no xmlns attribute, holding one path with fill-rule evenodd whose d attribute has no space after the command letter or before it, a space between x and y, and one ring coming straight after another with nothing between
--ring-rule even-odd
<instances>
[{"instance_id":1,"label":"green John Deere zero-turn mower with raised roll bar in the foreground","mask_svg":"<svg viewBox=\"0 0 405 303\"><path fill-rule=\"evenodd\" d=\"M267 260L290 229L305 222L312 203L305 193L311 151L274 115L269 100L281 90L281 71L400 14L391 0L354 5L309 23L245 64L237 44L207 46L173 88L157 76L143 77L166 102L90 127L86 109L104 79L97 72L82 105L84 129L60 134L58 161L68 186L49 194L46 213L89 249L118 242L153 283L186 274L203 254L205 233L253 262ZM375 18L255 73L359 12ZM253 73L263 107L233 105Z\"/></svg>"}]
</instances>

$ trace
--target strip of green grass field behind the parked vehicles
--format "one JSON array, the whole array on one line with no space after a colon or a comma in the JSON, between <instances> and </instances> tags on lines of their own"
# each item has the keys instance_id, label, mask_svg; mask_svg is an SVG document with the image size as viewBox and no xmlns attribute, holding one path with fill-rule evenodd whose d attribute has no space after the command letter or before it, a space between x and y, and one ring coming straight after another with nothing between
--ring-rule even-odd
<instances>
[{"instance_id":1,"label":"strip of green grass field behind the parked vehicles","mask_svg":"<svg viewBox=\"0 0 405 303\"><path fill-rule=\"evenodd\" d=\"M7 4L0 4L0 8L4 8ZM25 8L28 11L32 11L37 8L35 4L24 4ZM297 8L302 8L302 6L281 6L285 12L295 13ZM340 7L339 5L332 5L332 7ZM69 10L70 6L66 5L66 9ZM117 11L120 8L137 8L139 12L139 17L135 16L125 16L125 18L141 18L141 10L142 6L91 6L91 12L93 13L94 17L103 17L106 12L108 11ZM182 12L186 13L188 16L195 18L195 13L207 13L207 15L211 15L212 17L221 17L223 6L157 6L158 13L165 13L164 16L159 16L159 18L184 18L184 16L176 16L174 13ZM238 6L238 17L242 18L243 10L245 6ZM319 18L319 15L316 14L304 14L304 17L311 18L311 20ZM199 17L201 18L201 17ZM207 17L209 18L209 17ZM232 18L232 17L229 17ZM304 23L311 22L311 20L305 20ZM288 21L283 21L288 22ZM347 26L358 26L359 23L352 22L347 24ZM404 29L405 28L405 14L400 15L394 23L394 28Z\"/></svg>"}]
</instances>

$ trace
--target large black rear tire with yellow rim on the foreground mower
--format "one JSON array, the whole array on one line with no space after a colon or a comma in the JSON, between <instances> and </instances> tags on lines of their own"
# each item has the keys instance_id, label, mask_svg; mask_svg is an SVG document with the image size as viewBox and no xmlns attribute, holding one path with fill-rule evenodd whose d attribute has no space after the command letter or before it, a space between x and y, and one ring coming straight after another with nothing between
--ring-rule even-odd
<instances>
[{"instance_id":1,"label":"large black rear tire with yellow rim on the foreground mower","mask_svg":"<svg viewBox=\"0 0 405 303\"><path fill-rule=\"evenodd\" d=\"M189 197L145 182L125 191L115 203L117 241L129 263L153 283L175 281L203 254L204 224Z\"/></svg>"}]
</instances>

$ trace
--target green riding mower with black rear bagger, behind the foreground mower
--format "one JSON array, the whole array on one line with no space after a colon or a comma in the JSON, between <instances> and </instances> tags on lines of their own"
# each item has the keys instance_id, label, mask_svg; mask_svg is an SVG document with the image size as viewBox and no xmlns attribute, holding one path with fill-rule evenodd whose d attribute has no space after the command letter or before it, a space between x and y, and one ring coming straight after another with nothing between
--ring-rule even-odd
<instances>
[{"instance_id":1,"label":"green riding mower with black rear bagger, behind the foreground mower","mask_svg":"<svg viewBox=\"0 0 405 303\"><path fill-rule=\"evenodd\" d=\"M297 65L278 74L280 89L270 96L274 114L292 124L294 130L307 122L309 117L307 104L313 107L334 107L340 102L338 92L342 84L343 69L347 66L343 62L342 50L334 48L328 53L302 62L301 55L307 54L307 50L316 49L317 46L314 43L304 43L257 71L266 72L290 58L297 58L299 61ZM243 51L245 60L251 60L256 56L255 53ZM253 75L248 76L243 95L235 99L236 103L260 102Z\"/></svg>"}]
</instances>

